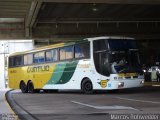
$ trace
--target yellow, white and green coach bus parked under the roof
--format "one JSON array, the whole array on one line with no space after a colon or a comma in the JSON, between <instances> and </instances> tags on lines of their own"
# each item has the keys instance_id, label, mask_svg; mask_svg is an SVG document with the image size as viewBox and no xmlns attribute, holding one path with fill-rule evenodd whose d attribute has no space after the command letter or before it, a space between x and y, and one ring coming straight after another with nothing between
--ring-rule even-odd
<instances>
[{"instance_id":1,"label":"yellow, white and green coach bus parked under the roof","mask_svg":"<svg viewBox=\"0 0 160 120\"><path fill-rule=\"evenodd\" d=\"M23 93L42 89L92 93L140 87L143 83L132 38L87 38L9 56L9 86Z\"/></svg>"}]
</instances>

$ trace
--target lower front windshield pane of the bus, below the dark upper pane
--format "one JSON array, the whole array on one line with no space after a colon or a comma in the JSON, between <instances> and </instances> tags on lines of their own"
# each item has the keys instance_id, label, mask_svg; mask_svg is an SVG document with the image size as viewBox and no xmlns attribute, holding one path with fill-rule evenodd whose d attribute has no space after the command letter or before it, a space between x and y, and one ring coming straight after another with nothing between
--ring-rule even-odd
<instances>
[{"instance_id":1,"label":"lower front windshield pane of the bus, below the dark upper pane","mask_svg":"<svg viewBox=\"0 0 160 120\"><path fill-rule=\"evenodd\" d=\"M140 72L140 61L138 51L111 51L109 52L109 63L111 73Z\"/></svg>"}]
</instances>

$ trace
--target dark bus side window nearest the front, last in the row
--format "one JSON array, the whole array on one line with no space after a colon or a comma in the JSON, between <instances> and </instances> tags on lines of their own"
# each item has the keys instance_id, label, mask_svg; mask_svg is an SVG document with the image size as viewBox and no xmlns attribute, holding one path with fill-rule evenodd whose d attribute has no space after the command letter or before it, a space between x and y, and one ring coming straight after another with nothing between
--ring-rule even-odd
<instances>
[{"instance_id":1,"label":"dark bus side window nearest the front, last in the row","mask_svg":"<svg viewBox=\"0 0 160 120\"><path fill-rule=\"evenodd\" d=\"M75 58L89 58L90 56L89 44L75 45Z\"/></svg>"}]
</instances>

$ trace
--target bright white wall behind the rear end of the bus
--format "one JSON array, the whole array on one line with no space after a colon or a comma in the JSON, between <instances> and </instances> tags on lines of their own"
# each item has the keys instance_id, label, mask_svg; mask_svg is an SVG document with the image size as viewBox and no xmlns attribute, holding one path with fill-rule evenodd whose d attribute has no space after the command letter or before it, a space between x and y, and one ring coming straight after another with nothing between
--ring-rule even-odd
<instances>
[{"instance_id":1,"label":"bright white wall behind the rear end of the bus","mask_svg":"<svg viewBox=\"0 0 160 120\"><path fill-rule=\"evenodd\" d=\"M0 41L0 89L5 89L8 84L8 56L14 52L33 49L32 40L7 40Z\"/></svg>"}]
</instances>

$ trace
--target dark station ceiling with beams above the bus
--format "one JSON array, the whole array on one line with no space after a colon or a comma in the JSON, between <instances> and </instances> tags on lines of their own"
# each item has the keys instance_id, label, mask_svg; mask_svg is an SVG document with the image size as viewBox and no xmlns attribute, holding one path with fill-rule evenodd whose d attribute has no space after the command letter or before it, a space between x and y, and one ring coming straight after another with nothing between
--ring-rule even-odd
<instances>
[{"instance_id":1,"label":"dark station ceiling with beams above the bus","mask_svg":"<svg viewBox=\"0 0 160 120\"><path fill-rule=\"evenodd\" d=\"M0 39L160 38L159 0L1 0Z\"/></svg>"}]
</instances>

